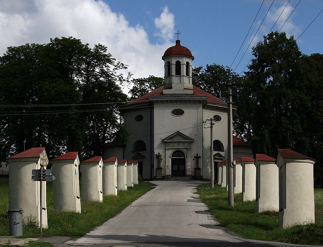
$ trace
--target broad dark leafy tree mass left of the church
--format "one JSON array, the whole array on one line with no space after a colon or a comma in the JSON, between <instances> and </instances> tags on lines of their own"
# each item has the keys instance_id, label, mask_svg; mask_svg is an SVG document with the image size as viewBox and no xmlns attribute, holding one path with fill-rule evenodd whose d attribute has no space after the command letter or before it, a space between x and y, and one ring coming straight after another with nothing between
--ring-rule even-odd
<instances>
[{"instance_id":1,"label":"broad dark leafy tree mass left of the church","mask_svg":"<svg viewBox=\"0 0 323 247\"><path fill-rule=\"evenodd\" d=\"M9 47L0 57L1 160L23 151L25 140L50 157L99 155L101 144L125 134L117 113L127 101L121 85L130 74L117 73L125 68L105 46L73 37Z\"/></svg>"}]
</instances>

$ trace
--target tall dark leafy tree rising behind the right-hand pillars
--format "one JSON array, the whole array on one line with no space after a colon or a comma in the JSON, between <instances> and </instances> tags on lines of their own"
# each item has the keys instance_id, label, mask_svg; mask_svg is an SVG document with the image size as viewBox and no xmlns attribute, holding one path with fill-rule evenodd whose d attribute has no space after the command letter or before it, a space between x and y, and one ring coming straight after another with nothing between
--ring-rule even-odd
<instances>
[{"instance_id":1,"label":"tall dark leafy tree rising behind the right-hand pillars","mask_svg":"<svg viewBox=\"0 0 323 247\"><path fill-rule=\"evenodd\" d=\"M235 124L254 153L276 157L277 148L305 155L311 150L312 60L293 37L271 32L253 47L254 59L238 98Z\"/></svg>"}]
</instances>

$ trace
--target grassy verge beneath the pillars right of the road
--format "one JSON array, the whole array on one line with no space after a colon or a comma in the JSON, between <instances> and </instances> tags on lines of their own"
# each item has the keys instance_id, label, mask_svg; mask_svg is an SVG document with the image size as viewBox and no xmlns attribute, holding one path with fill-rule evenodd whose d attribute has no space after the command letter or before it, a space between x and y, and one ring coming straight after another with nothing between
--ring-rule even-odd
<instances>
[{"instance_id":1,"label":"grassy verge beneath the pillars right of the road","mask_svg":"<svg viewBox=\"0 0 323 247\"><path fill-rule=\"evenodd\" d=\"M225 188L200 185L197 192L210 212L228 230L246 239L323 245L323 189L315 189L315 224L280 229L278 212L255 212L255 201L242 202L241 193L234 195L234 207L228 205Z\"/></svg>"}]
</instances>

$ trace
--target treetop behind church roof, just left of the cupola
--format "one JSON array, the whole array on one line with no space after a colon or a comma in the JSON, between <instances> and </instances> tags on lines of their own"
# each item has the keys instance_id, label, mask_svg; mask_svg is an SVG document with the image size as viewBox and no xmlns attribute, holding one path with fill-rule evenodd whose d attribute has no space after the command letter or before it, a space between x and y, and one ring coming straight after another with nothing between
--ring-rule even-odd
<instances>
[{"instance_id":1,"label":"treetop behind church roof, just left of the cupola","mask_svg":"<svg viewBox=\"0 0 323 247\"><path fill-rule=\"evenodd\" d=\"M161 87L164 84L164 78L150 75L148 78L132 79L132 89L130 100L135 100L149 92Z\"/></svg>"}]
</instances>

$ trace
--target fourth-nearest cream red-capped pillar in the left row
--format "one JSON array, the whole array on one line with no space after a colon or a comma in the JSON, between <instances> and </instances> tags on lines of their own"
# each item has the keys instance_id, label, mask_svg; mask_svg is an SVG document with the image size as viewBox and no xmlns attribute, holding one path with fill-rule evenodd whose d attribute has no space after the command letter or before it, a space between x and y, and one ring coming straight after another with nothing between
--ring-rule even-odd
<instances>
[{"instance_id":1,"label":"fourth-nearest cream red-capped pillar in the left row","mask_svg":"<svg viewBox=\"0 0 323 247\"><path fill-rule=\"evenodd\" d=\"M110 157L103 161L102 189L104 195L117 195L117 165L118 158Z\"/></svg>"}]
</instances>

